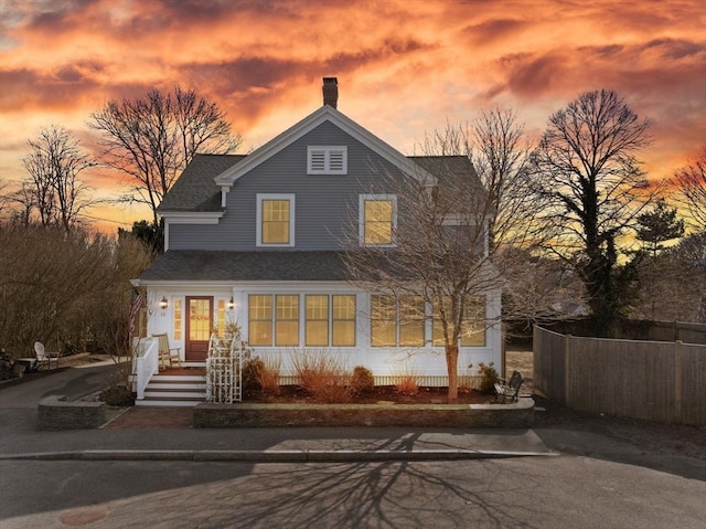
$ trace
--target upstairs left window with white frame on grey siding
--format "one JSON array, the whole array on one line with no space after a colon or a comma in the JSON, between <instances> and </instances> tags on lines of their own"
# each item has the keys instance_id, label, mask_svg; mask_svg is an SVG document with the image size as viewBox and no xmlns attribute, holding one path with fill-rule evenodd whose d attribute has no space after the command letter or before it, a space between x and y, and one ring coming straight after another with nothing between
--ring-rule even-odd
<instances>
[{"instance_id":1,"label":"upstairs left window with white frame on grey siding","mask_svg":"<svg viewBox=\"0 0 706 529\"><path fill-rule=\"evenodd\" d=\"M257 194L257 246L295 245L295 195Z\"/></svg>"}]
</instances>

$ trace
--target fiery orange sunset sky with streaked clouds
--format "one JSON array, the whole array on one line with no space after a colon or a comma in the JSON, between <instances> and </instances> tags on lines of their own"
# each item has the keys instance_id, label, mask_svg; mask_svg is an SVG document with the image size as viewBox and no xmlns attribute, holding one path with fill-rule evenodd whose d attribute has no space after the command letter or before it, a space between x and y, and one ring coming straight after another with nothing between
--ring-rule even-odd
<instances>
[{"instance_id":1,"label":"fiery orange sunset sky with streaked clouds","mask_svg":"<svg viewBox=\"0 0 706 529\"><path fill-rule=\"evenodd\" d=\"M426 131L512 106L537 137L580 93L617 91L652 123L641 154L670 177L706 145L706 8L670 1L0 0L0 184L52 124L92 139L89 113L150 88L216 102L252 150L321 106L404 154ZM83 173L98 197L119 176ZM101 207L107 231L149 219Z\"/></svg>"}]
</instances>

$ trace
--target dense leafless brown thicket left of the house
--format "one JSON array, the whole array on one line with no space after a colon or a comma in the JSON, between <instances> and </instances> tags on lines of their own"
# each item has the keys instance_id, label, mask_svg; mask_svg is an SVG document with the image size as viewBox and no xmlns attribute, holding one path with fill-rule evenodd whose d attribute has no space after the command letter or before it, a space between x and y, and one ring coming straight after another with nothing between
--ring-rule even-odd
<instances>
[{"instance_id":1,"label":"dense leafless brown thicket left of the house","mask_svg":"<svg viewBox=\"0 0 706 529\"><path fill-rule=\"evenodd\" d=\"M12 248L0 252L3 347L26 356L35 340L55 348L90 337L125 355L128 279L151 263L147 245L130 235L115 242L79 228L10 223L0 226L0 247Z\"/></svg>"}]
</instances>

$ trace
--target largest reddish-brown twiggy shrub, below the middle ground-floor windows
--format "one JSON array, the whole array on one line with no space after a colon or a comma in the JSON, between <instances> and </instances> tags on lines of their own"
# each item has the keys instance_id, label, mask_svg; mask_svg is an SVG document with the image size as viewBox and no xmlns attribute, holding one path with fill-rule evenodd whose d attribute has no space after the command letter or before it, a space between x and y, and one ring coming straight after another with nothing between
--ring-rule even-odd
<instances>
[{"instance_id":1,"label":"largest reddish-brown twiggy shrub, below the middle ground-floor windows","mask_svg":"<svg viewBox=\"0 0 706 529\"><path fill-rule=\"evenodd\" d=\"M293 355L292 363L299 387L317 401L342 403L351 400L351 375L338 357L303 350Z\"/></svg>"}]
</instances>

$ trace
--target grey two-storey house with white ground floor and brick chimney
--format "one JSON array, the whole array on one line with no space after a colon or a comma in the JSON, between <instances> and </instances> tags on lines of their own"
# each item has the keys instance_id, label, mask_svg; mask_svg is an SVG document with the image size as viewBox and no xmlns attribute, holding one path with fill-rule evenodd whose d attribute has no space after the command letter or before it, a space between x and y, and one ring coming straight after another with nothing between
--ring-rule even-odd
<instances>
[{"instance_id":1,"label":"grey two-storey house with white ground floor and brick chimney","mask_svg":"<svg viewBox=\"0 0 706 529\"><path fill-rule=\"evenodd\" d=\"M338 81L323 81L319 109L249 155L197 155L164 197L165 252L133 282L147 290L148 332L168 332L186 366L203 364L212 331L236 322L256 356L281 360L284 375L293 355L313 349L368 368L378 383L411 373L447 385L431 319L371 320L388 299L347 281L341 247L353 215L360 244L394 251L396 197L370 192L373 168L415 178L424 160L339 112ZM486 319L498 318L500 293L484 300ZM499 326L480 327L460 345L460 375L471 363L501 364Z\"/></svg>"}]
</instances>

